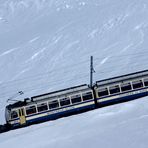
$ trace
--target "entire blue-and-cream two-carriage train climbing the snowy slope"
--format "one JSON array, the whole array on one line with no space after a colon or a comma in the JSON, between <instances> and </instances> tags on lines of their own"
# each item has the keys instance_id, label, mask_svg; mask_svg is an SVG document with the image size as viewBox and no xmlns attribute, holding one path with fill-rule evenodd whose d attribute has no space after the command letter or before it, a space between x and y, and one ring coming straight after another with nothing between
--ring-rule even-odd
<instances>
[{"instance_id":1,"label":"entire blue-and-cream two-carriage train climbing the snowy slope","mask_svg":"<svg viewBox=\"0 0 148 148\"><path fill-rule=\"evenodd\" d=\"M55 120L148 95L148 70L45 93L5 108L0 132Z\"/></svg>"}]
</instances>

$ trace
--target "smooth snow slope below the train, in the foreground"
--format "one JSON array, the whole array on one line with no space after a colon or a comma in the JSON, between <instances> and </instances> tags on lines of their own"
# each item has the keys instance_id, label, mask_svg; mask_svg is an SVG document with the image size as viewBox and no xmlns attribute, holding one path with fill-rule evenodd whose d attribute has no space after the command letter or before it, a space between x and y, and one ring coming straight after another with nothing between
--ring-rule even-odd
<instances>
[{"instance_id":1,"label":"smooth snow slope below the train, in the foreground","mask_svg":"<svg viewBox=\"0 0 148 148\"><path fill-rule=\"evenodd\" d=\"M148 97L0 134L2 148L147 148Z\"/></svg>"}]
</instances>

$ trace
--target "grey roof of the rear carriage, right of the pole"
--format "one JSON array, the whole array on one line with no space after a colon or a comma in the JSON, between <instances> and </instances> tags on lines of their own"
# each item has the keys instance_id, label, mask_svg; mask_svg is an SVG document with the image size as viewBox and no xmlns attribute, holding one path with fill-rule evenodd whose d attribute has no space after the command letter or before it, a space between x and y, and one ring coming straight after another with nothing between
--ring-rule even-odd
<instances>
[{"instance_id":1,"label":"grey roof of the rear carriage, right of the pole","mask_svg":"<svg viewBox=\"0 0 148 148\"><path fill-rule=\"evenodd\" d=\"M96 85L103 86L103 85L109 85L109 84L113 84L113 83L120 83L120 82L123 83L125 81L130 81L133 79L138 79L138 78L142 78L142 77L146 77L146 76L148 76L148 70L138 71L138 72L122 75L122 76L117 76L117 77L113 77L113 78L109 78L109 79L96 81Z\"/></svg>"}]
</instances>

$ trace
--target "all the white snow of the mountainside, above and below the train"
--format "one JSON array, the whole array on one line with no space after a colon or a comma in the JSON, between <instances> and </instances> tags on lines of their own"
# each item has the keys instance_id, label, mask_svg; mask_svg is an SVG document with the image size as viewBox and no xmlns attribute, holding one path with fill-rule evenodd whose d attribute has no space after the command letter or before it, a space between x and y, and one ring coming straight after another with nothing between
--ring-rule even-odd
<instances>
[{"instance_id":1,"label":"all the white snow of the mountainside, above and below the train","mask_svg":"<svg viewBox=\"0 0 148 148\"><path fill-rule=\"evenodd\" d=\"M88 84L91 55L94 81L147 69L147 34L147 0L0 0L0 123L7 99ZM3 133L0 147L147 148L147 99Z\"/></svg>"}]
</instances>

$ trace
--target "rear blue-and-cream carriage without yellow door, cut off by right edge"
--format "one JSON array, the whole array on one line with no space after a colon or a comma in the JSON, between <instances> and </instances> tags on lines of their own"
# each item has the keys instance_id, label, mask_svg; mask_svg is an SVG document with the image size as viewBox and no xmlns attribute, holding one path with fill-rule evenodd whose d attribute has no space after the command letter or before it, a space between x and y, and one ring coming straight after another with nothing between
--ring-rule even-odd
<instances>
[{"instance_id":1,"label":"rear blue-and-cream carriage without yellow door, cut off by right edge","mask_svg":"<svg viewBox=\"0 0 148 148\"><path fill-rule=\"evenodd\" d=\"M95 93L99 106L144 97L148 95L148 70L97 81Z\"/></svg>"}]
</instances>

